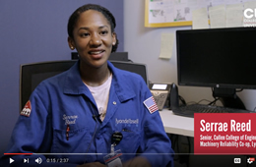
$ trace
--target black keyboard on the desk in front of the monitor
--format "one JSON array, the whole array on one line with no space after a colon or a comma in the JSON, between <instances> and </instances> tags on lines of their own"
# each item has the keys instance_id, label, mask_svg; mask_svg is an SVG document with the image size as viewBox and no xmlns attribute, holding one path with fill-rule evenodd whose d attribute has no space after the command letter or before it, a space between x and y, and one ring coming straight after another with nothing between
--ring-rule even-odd
<instances>
[{"instance_id":1,"label":"black keyboard on the desk in front of the monitor","mask_svg":"<svg viewBox=\"0 0 256 167\"><path fill-rule=\"evenodd\" d=\"M214 105L191 104L172 108L172 112L176 115L194 117L194 113L251 113L252 111Z\"/></svg>"}]
</instances>

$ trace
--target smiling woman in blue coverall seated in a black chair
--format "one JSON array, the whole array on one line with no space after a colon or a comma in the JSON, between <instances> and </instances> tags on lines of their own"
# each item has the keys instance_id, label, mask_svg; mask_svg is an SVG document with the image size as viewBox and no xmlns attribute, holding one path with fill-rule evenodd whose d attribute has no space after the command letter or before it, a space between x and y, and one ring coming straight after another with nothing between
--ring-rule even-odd
<instances>
[{"instance_id":1,"label":"smiling woman in blue coverall seated in a black chair","mask_svg":"<svg viewBox=\"0 0 256 167\"><path fill-rule=\"evenodd\" d=\"M173 166L171 142L144 79L107 61L118 46L114 28L114 17L99 5L71 15L68 44L80 59L33 90L25 106L30 115L21 113L6 153L37 153L30 159L40 157L46 166L48 155L68 159L60 166ZM10 156L3 158L7 165ZM24 158L15 157L21 164Z\"/></svg>"}]
</instances>

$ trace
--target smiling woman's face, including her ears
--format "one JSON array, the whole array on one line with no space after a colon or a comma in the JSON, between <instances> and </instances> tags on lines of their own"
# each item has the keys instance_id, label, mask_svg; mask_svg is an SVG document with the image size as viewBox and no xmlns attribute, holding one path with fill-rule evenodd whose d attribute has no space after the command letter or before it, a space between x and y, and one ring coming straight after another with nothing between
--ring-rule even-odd
<instances>
[{"instance_id":1,"label":"smiling woman's face, including her ears","mask_svg":"<svg viewBox=\"0 0 256 167\"><path fill-rule=\"evenodd\" d=\"M106 63L116 37L100 12L88 10L82 13L73 34L74 39L68 38L69 46L77 49L83 63L95 68Z\"/></svg>"}]
</instances>

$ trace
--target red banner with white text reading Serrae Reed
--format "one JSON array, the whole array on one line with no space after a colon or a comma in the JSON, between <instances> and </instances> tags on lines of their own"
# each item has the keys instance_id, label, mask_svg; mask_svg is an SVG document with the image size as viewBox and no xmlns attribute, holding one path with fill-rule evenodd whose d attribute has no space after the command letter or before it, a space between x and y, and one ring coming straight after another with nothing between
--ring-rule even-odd
<instances>
[{"instance_id":1,"label":"red banner with white text reading Serrae Reed","mask_svg":"<svg viewBox=\"0 0 256 167\"><path fill-rule=\"evenodd\" d=\"M256 154L256 113L195 113L195 154Z\"/></svg>"}]
</instances>

